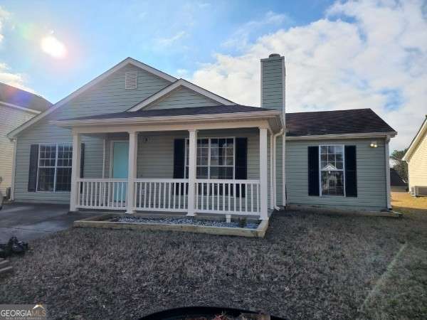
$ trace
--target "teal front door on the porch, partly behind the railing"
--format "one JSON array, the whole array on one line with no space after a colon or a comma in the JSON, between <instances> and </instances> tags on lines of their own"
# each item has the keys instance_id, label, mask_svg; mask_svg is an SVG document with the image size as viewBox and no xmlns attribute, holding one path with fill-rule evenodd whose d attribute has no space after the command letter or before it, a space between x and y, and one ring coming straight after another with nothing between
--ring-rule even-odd
<instances>
[{"instance_id":1,"label":"teal front door on the porch, partly behind the railing","mask_svg":"<svg viewBox=\"0 0 427 320\"><path fill-rule=\"evenodd\" d=\"M112 178L127 179L127 164L129 159L129 142L112 142ZM117 184L115 201L125 201L126 186Z\"/></svg>"}]
</instances>

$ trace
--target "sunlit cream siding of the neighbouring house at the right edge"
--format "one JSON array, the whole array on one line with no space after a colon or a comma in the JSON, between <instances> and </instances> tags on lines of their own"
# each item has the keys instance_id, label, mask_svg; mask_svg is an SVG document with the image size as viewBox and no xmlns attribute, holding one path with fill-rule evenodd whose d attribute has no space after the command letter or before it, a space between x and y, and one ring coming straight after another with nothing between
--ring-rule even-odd
<instances>
[{"instance_id":1,"label":"sunlit cream siding of the neighbouring house at the right edge","mask_svg":"<svg viewBox=\"0 0 427 320\"><path fill-rule=\"evenodd\" d=\"M427 134L413 151L408 163L409 190L413 186L427 186Z\"/></svg>"}]
</instances>

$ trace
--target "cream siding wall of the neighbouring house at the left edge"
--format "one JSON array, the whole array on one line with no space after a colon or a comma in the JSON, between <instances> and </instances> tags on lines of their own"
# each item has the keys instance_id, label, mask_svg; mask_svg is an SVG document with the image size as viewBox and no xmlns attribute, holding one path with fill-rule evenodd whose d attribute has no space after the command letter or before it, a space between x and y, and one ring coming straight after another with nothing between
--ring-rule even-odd
<instances>
[{"instance_id":1,"label":"cream siding wall of the neighbouring house at the left edge","mask_svg":"<svg viewBox=\"0 0 427 320\"><path fill-rule=\"evenodd\" d=\"M14 144L6 137L16 127L34 117L36 114L0 105L0 191L6 196L6 188L11 186L12 159Z\"/></svg>"}]
</instances>

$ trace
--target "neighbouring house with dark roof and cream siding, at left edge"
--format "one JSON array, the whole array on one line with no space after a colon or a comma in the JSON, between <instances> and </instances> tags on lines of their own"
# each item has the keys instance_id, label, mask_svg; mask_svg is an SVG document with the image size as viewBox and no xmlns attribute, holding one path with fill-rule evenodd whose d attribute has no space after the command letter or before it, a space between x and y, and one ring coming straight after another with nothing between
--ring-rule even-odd
<instances>
[{"instance_id":1,"label":"neighbouring house with dark roof and cream siding, at left edge","mask_svg":"<svg viewBox=\"0 0 427 320\"><path fill-rule=\"evenodd\" d=\"M39 95L0 82L0 192L3 196L11 187L14 162L14 142L6 134L51 105Z\"/></svg>"}]
</instances>

